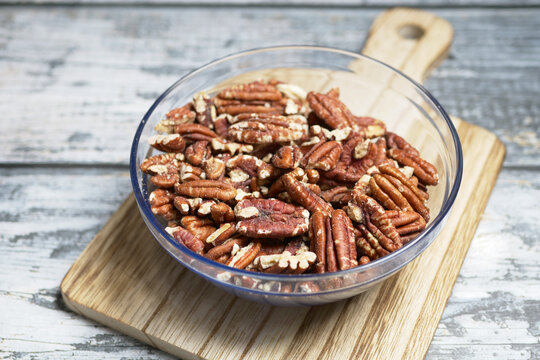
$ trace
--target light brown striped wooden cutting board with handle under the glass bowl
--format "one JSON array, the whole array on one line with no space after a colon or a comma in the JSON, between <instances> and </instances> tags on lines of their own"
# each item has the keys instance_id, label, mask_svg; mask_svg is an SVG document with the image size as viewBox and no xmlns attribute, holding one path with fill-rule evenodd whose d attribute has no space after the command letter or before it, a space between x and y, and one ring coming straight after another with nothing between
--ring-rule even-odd
<instances>
[{"instance_id":1,"label":"light brown striped wooden cutting board with handle under the glass bowl","mask_svg":"<svg viewBox=\"0 0 540 360\"><path fill-rule=\"evenodd\" d=\"M443 19L393 9L374 22L364 53L421 81L452 41ZM397 275L356 297L311 308L242 300L170 257L130 196L64 278L67 306L185 359L422 358L429 347L505 149L487 130L454 119L463 181L435 242Z\"/></svg>"}]
</instances>

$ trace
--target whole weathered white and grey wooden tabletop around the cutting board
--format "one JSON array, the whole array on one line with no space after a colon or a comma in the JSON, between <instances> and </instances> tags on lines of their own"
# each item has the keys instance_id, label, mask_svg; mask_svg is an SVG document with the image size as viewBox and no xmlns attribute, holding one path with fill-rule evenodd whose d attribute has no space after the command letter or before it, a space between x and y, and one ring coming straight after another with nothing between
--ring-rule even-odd
<instances>
[{"instance_id":1,"label":"whole weathered white and grey wooden tabletop around the cutting board","mask_svg":"<svg viewBox=\"0 0 540 360\"><path fill-rule=\"evenodd\" d=\"M0 358L169 358L67 311L59 295L131 192L136 124L178 77L227 53L293 43L359 51L391 2L22 2L0 0ZM508 151L427 358L538 359L540 1L403 4L455 28L426 87Z\"/></svg>"}]
</instances>

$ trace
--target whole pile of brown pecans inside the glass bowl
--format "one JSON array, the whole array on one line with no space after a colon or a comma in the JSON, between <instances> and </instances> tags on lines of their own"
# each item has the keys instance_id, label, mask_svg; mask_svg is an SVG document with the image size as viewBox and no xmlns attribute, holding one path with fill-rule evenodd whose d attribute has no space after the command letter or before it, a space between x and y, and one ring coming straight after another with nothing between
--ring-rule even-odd
<instances>
[{"instance_id":1,"label":"whole pile of brown pecans inside the glass bowl","mask_svg":"<svg viewBox=\"0 0 540 360\"><path fill-rule=\"evenodd\" d=\"M198 93L159 122L141 164L152 212L188 249L266 273L326 273L426 227L435 167L328 93L270 80Z\"/></svg>"}]
</instances>

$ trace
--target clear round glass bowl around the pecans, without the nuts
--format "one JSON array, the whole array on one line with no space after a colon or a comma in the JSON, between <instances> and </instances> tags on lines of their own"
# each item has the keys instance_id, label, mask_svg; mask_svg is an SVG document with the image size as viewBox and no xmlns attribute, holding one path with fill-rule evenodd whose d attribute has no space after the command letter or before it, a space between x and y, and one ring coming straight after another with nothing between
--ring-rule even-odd
<instances>
[{"instance_id":1,"label":"clear round glass bowl around the pecans, without the nuts","mask_svg":"<svg viewBox=\"0 0 540 360\"><path fill-rule=\"evenodd\" d=\"M233 269L178 244L152 214L148 178L139 165L153 150L147 139L165 114L202 90L212 94L236 83L277 79L306 91L340 88L340 99L355 115L383 120L437 167L440 181L429 188L431 220L401 249L345 271L326 274L271 275ZM144 115L131 148L130 173L142 218L159 244L178 262L237 296L272 305L318 305L362 293L395 274L436 238L456 198L463 168L461 144L448 114L421 85L367 56L313 46L255 49L215 60L185 75L167 89ZM159 261L159 259L156 259Z\"/></svg>"}]
</instances>

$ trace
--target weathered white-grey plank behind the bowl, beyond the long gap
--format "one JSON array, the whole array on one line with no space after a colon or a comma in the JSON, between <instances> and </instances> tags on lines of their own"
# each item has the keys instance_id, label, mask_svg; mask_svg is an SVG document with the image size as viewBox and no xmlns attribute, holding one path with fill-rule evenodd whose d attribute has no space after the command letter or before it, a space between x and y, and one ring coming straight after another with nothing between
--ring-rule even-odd
<instances>
[{"instance_id":1,"label":"weathered white-grey plank behind the bowl, beyond the long gap","mask_svg":"<svg viewBox=\"0 0 540 360\"><path fill-rule=\"evenodd\" d=\"M3 8L0 163L127 164L136 124L187 71L276 44L360 51L379 12ZM435 13L456 34L426 87L450 113L499 135L506 165L540 166L540 9Z\"/></svg>"}]
</instances>

